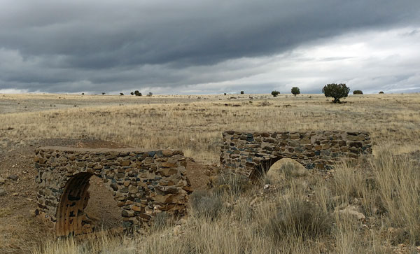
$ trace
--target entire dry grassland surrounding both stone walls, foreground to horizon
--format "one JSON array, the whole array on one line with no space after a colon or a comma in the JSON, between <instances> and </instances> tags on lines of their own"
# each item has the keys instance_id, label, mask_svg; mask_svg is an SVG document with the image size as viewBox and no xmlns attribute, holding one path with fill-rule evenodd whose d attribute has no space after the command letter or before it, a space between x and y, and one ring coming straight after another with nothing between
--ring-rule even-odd
<instances>
[{"instance_id":1,"label":"entire dry grassland surrounding both stone walls, foreground to horizon","mask_svg":"<svg viewBox=\"0 0 420 254\"><path fill-rule=\"evenodd\" d=\"M420 94L330 101L322 94L0 94L0 253L419 253ZM227 129L368 131L374 156L302 174L299 165L277 162L276 177L258 183L216 177L213 188L193 192L188 218L162 218L134 237L56 240L31 217L36 146L94 139L179 148L204 167L218 164Z\"/></svg>"}]
</instances>

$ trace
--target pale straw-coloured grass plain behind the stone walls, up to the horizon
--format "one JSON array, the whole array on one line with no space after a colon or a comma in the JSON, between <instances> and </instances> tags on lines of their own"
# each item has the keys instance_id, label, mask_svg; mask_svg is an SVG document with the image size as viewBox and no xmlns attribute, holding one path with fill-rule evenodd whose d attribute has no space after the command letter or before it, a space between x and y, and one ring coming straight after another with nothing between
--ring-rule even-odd
<instances>
[{"instance_id":1,"label":"pale straw-coloured grass plain behind the stone walls, up to the horizon","mask_svg":"<svg viewBox=\"0 0 420 254\"><path fill-rule=\"evenodd\" d=\"M276 98L261 94L167 97L25 94L0 98L10 99L18 106L32 104L34 100L38 105L29 109L15 105L18 112L1 114L3 139L90 136L146 149L181 148L188 156L204 162L218 162L221 132L226 129L364 130L371 132L374 145L390 145L395 151L414 149L420 139L420 94L350 96L345 104L331 104L330 99L320 94ZM51 101L60 109L39 110L42 104L50 105Z\"/></svg>"}]
</instances>

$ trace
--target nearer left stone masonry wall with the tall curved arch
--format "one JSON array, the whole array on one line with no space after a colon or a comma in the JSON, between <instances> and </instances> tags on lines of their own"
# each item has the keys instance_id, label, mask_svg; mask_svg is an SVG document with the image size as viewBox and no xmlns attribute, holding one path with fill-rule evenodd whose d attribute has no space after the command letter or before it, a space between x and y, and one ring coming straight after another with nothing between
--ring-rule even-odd
<instances>
[{"instance_id":1,"label":"nearer left stone masonry wall with the tall curved arch","mask_svg":"<svg viewBox=\"0 0 420 254\"><path fill-rule=\"evenodd\" d=\"M89 179L102 178L122 209L123 227L150 225L162 211L184 213L188 180L186 158L179 150L36 149L36 213L57 236L94 230L84 209Z\"/></svg>"}]
</instances>

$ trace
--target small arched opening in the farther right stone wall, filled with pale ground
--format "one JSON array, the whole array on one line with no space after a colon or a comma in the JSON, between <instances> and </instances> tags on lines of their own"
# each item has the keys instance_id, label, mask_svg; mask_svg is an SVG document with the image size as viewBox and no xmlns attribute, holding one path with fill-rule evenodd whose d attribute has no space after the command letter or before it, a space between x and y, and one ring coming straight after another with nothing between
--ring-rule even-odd
<instances>
[{"instance_id":1,"label":"small arched opening in the farther right stone wall, filled with pale ground","mask_svg":"<svg viewBox=\"0 0 420 254\"><path fill-rule=\"evenodd\" d=\"M266 175L273 181L281 181L283 177L306 176L306 169L300 162L290 158L282 158L274 162L266 171Z\"/></svg>"}]
</instances>

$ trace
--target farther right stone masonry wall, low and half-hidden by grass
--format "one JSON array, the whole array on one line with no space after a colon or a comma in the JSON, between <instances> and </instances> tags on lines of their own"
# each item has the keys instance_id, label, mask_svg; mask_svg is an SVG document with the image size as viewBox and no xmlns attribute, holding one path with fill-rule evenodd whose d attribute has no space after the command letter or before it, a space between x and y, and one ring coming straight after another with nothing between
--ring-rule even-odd
<instances>
[{"instance_id":1,"label":"farther right stone masonry wall, low and half-hidden by grass","mask_svg":"<svg viewBox=\"0 0 420 254\"><path fill-rule=\"evenodd\" d=\"M339 157L372 153L367 132L223 132L221 165L246 176L267 172L283 157L307 169L330 169Z\"/></svg>"}]
</instances>

